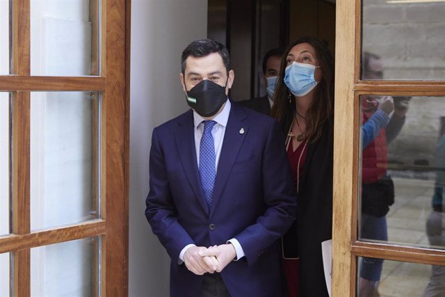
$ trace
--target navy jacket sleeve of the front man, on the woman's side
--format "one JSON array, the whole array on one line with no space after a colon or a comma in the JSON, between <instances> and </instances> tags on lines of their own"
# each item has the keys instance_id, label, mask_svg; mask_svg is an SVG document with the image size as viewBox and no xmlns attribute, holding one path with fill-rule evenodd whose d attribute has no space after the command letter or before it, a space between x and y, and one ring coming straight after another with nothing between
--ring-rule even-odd
<instances>
[{"instance_id":1,"label":"navy jacket sleeve of the front man, on the woman's side","mask_svg":"<svg viewBox=\"0 0 445 297\"><path fill-rule=\"evenodd\" d=\"M235 236L250 265L283 236L296 218L295 187L284 147L284 137L275 120L268 133L259 170L262 170L266 211L254 225Z\"/></svg>"}]
</instances>

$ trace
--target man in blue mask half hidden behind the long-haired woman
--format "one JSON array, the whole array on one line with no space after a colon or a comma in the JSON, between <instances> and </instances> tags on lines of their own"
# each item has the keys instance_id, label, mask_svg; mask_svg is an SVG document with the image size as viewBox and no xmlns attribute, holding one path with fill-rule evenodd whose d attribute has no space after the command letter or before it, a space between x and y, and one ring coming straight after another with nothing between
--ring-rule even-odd
<instances>
[{"instance_id":1,"label":"man in blue mask half hidden behind the long-haired woman","mask_svg":"<svg viewBox=\"0 0 445 297\"><path fill-rule=\"evenodd\" d=\"M248 107L259 113L268 115L273 104L273 93L277 84L278 74L280 73L280 63L283 55L283 49L270 49L263 58L263 78L266 86L266 95L238 102L241 106Z\"/></svg>"}]
</instances>

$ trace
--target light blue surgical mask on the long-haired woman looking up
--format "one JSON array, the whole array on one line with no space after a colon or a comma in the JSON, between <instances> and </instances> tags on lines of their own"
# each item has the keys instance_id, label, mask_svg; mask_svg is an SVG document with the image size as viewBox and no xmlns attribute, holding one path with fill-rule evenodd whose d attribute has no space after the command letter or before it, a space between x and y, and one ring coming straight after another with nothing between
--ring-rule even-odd
<instances>
[{"instance_id":1,"label":"light blue surgical mask on the long-haired woman looking up","mask_svg":"<svg viewBox=\"0 0 445 297\"><path fill-rule=\"evenodd\" d=\"M291 90L291 93L297 97L302 97L312 91L317 85L314 73L315 68L311 64L303 64L293 61L286 67L284 72L284 83Z\"/></svg>"}]
</instances>

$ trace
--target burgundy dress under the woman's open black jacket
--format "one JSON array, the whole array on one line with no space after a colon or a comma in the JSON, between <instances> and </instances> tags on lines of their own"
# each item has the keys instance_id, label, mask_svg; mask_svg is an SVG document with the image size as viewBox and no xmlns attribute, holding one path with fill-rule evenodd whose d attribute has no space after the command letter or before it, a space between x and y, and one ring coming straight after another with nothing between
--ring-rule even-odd
<instances>
[{"instance_id":1,"label":"burgundy dress under the woman's open black jacket","mask_svg":"<svg viewBox=\"0 0 445 297\"><path fill-rule=\"evenodd\" d=\"M295 184L296 187L298 184L298 177L301 179L303 175L303 167L305 165L307 152L307 145L305 145L305 143L305 141L300 143L294 152L291 141L287 149L287 156L289 157L289 163L291 164L293 184ZM300 168L298 168L298 159L300 159ZM284 274L286 275L288 297L298 297L300 295L298 289L298 261L298 259L284 259Z\"/></svg>"}]
</instances>

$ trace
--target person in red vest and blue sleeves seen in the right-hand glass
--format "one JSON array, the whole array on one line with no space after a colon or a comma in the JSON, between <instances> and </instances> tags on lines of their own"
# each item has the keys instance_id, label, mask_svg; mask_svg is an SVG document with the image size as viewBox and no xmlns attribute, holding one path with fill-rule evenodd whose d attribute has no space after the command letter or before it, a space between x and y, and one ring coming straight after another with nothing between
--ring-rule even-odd
<instances>
[{"instance_id":1,"label":"person in red vest and blue sleeves seen in the right-hand glass","mask_svg":"<svg viewBox=\"0 0 445 297\"><path fill-rule=\"evenodd\" d=\"M364 79L383 79L379 56L364 53ZM362 107L361 239L387 241L386 214L394 203L394 183L387 174L387 145L400 133L410 97L360 96ZM394 111L394 113L393 113ZM359 296L379 296L382 259L360 263Z\"/></svg>"}]
</instances>

